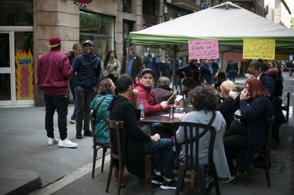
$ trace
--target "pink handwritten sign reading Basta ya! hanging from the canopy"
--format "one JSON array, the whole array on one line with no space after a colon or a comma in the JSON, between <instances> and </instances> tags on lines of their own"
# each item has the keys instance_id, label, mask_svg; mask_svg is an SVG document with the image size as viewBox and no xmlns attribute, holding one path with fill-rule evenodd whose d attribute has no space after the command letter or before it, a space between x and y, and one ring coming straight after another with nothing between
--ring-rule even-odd
<instances>
[{"instance_id":1,"label":"pink handwritten sign reading Basta ya! hanging from the canopy","mask_svg":"<svg viewBox=\"0 0 294 195\"><path fill-rule=\"evenodd\" d=\"M218 59L218 40L188 40L189 59Z\"/></svg>"}]
</instances>

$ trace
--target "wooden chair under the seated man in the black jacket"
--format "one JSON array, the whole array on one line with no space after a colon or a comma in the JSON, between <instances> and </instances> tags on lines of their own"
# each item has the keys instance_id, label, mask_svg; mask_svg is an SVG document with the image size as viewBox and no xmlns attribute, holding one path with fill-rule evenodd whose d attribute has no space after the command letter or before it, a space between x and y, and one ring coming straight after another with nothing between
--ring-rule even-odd
<instances>
[{"instance_id":1,"label":"wooden chair under the seated man in the black jacket","mask_svg":"<svg viewBox=\"0 0 294 195\"><path fill-rule=\"evenodd\" d=\"M109 167L109 174L107 179L107 189L106 192L108 192L112 169L114 167L114 160L117 160L119 162L119 184L117 185L117 194L120 194L121 188L121 180L124 175L124 165L122 162L122 141L121 140L121 130L124 130L124 122L123 121L111 121L108 120L108 130L109 130L109 138L111 140L111 143L114 143L113 145L116 145L117 148L111 147L111 160L110 160L110 167ZM112 145L112 144L111 144ZM146 172L146 181L148 181L148 184L151 189L151 194L153 194L152 184L151 184L151 159L152 155L145 155L144 165L145 165L145 172ZM140 184L141 179L140 179Z\"/></svg>"}]
</instances>

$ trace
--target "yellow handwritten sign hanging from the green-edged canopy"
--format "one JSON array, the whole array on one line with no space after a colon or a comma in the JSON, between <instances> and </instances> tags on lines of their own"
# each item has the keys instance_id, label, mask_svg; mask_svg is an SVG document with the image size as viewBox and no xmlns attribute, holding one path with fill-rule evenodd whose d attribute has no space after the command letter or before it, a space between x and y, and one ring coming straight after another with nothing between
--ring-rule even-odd
<instances>
[{"instance_id":1,"label":"yellow handwritten sign hanging from the green-edged canopy","mask_svg":"<svg viewBox=\"0 0 294 195\"><path fill-rule=\"evenodd\" d=\"M276 40L244 39L243 59L275 60Z\"/></svg>"}]
</instances>

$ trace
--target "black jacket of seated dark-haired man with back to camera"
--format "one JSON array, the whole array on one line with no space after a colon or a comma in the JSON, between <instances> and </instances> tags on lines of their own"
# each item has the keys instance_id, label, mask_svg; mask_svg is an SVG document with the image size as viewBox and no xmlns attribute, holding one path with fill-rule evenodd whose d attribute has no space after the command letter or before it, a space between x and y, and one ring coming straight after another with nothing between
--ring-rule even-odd
<instances>
[{"instance_id":1,"label":"black jacket of seated dark-haired man with back to camera","mask_svg":"<svg viewBox=\"0 0 294 195\"><path fill-rule=\"evenodd\" d=\"M140 118L140 111L129 99L124 96L114 96L109 104L109 119L124 121L124 130L121 132L122 139L122 160L126 169L131 174L140 178L145 177L143 144L151 141L150 135L141 130L137 121ZM114 152L117 153L116 138L111 135L111 144Z\"/></svg>"}]
</instances>

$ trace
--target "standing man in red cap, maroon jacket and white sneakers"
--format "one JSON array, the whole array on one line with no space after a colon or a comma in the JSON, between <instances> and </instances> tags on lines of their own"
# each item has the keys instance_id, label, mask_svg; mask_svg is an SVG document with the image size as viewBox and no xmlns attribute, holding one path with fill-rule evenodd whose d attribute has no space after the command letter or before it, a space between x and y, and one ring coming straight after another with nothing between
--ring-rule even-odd
<instances>
[{"instance_id":1,"label":"standing man in red cap, maroon jacket and white sneakers","mask_svg":"<svg viewBox=\"0 0 294 195\"><path fill-rule=\"evenodd\" d=\"M59 147L77 147L67 138L67 104L68 79L72 75L72 67L66 55L60 52L61 40L53 36L49 40L50 51L40 56L37 67L38 86L45 99L45 129L48 145L58 143ZM53 115L58 112L58 129L60 139L54 139Z\"/></svg>"}]
</instances>

